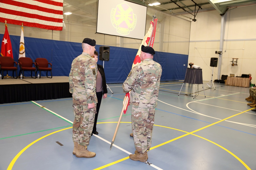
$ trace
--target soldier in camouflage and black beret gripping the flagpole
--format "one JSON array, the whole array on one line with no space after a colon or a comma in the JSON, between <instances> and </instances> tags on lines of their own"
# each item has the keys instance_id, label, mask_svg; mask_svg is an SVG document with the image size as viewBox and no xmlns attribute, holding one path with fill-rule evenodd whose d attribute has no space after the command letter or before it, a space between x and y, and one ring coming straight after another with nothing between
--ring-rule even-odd
<instances>
[{"instance_id":1,"label":"soldier in camouflage and black beret gripping the flagpole","mask_svg":"<svg viewBox=\"0 0 256 170\"><path fill-rule=\"evenodd\" d=\"M151 147L151 135L154 125L155 108L159 92L162 67L153 61L155 51L152 47L141 47L141 63L134 66L123 83L124 93L131 90L132 132L135 154L131 160L146 162L147 151Z\"/></svg>"}]
</instances>

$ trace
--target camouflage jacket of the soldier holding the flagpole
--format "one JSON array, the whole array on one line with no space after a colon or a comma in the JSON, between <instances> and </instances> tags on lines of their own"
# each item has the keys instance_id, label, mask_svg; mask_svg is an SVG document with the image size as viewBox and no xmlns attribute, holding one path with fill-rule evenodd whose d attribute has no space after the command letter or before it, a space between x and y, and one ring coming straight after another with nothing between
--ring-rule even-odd
<instances>
[{"instance_id":1,"label":"camouflage jacket of the soldier holding the flagpole","mask_svg":"<svg viewBox=\"0 0 256 170\"><path fill-rule=\"evenodd\" d=\"M133 107L153 109L157 106L162 67L151 58L134 66L123 83L124 93L131 90Z\"/></svg>"}]
</instances>

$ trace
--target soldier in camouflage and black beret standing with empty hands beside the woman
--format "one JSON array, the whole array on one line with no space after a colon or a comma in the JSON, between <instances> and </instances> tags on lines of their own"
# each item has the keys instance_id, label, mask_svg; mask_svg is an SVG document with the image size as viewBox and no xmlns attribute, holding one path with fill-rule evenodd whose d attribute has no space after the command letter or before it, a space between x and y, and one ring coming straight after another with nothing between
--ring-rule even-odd
<instances>
[{"instance_id":1,"label":"soldier in camouflage and black beret standing with empty hands beside the woman","mask_svg":"<svg viewBox=\"0 0 256 170\"><path fill-rule=\"evenodd\" d=\"M83 53L76 57L69 74L69 92L73 96L73 154L78 158L92 158L96 155L87 150L96 113L97 63L93 58L96 41L84 38Z\"/></svg>"}]
</instances>

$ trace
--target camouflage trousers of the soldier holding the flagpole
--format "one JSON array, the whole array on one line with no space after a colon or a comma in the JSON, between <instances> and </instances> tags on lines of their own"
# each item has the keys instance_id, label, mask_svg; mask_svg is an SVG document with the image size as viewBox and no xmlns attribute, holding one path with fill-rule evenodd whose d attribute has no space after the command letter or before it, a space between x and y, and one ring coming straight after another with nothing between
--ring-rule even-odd
<instances>
[{"instance_id":1,"label":"camouflage trousers of the soldier holding the flagpole","mask_svg":"<svg viewBox=\"0 0 256 170\"><path fill-rule=\"evenodd\" d=\"M144 153L151 147L155 109L132 107L132 133L136 150Z\"/></svg>"}]
</instances>

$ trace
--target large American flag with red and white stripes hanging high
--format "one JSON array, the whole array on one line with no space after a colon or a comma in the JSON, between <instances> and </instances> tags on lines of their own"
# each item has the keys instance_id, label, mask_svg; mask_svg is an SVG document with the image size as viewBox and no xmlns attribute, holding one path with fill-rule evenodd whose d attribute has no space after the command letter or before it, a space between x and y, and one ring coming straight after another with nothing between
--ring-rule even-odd
<instances>
[{"instance_id":1,"label":"large American flag with red and white stripes hanging high","mask_svg":"<svg viewBox=\"0 0 256 170\"><path fill-rule=\"evenodd\" d=\"M63 0L0 0L0 22L62 30Z\"/></svg>"}]
</instances>

